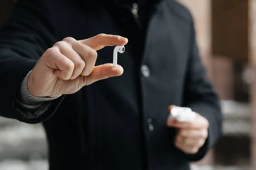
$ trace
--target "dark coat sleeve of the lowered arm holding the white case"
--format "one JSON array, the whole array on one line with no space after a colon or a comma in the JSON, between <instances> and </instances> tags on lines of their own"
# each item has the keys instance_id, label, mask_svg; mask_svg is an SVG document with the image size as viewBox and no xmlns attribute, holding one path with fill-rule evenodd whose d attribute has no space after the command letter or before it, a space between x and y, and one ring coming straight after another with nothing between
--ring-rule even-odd
<instances>
[{"instance_id":1,"label":"dark coat sleeve of the lowered arm holding the white case","mask_svg":"<svg viewBox=\"0 0 256 170\"><path fill-rule=\"evenodd\" d=\"M218 95L207 78L206 69L199 56L192 17L190 35L190 52L189 61L187 62L183 104L185 107L192 108L193 111L201 114L209 121L209 135L206 143L198 153L188 155L189 161L199 161L222 135L223 118Z\"/></svg>"}]
</instances>

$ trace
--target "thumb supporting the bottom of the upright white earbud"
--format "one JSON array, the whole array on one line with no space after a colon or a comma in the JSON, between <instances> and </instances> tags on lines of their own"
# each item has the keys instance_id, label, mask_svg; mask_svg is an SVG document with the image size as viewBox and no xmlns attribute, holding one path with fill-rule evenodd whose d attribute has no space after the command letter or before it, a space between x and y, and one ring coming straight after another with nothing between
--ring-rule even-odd
<instances>
[{"instance_id":1,"label":"thumb supporting the bottom of the upright white earbud","mask_svg":"<svg viewBox=\"0 0 256 170\"><path fill-rule=\"evenodd\" d=\"M108 77L121 76L123 72L124 70L120 65L117 65L116 68L111 63L98 65L93 68L89 76L84 77L84 85L90 85L93 82L107 79Z\"/></svg>"}]
</instances>

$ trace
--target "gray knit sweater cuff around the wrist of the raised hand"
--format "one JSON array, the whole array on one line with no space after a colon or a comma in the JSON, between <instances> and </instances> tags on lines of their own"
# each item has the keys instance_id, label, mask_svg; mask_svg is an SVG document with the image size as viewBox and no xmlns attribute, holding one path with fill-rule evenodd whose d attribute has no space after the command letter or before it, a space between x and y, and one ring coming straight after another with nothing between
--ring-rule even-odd
<instances>
[{"instance_id":1,"label":"gray knit sweater cuff around the wrist of the raised hand","mask_svg":"<svg viewBox=\"0 0 256 170\"><path fill-rule=\"evenodd\" d=\"M35 105L35 104L40 104L41 102L47 102L51 101L54 99L57 99L60 96L57 97L37 97L33 96L28 89L27 81L28 77L31 71L26 75L26 77L23 79L23 82L21 84L21 89L20 89L20 99L21 101L26 104L26 105Z\"/></svg>"}]
</instances>

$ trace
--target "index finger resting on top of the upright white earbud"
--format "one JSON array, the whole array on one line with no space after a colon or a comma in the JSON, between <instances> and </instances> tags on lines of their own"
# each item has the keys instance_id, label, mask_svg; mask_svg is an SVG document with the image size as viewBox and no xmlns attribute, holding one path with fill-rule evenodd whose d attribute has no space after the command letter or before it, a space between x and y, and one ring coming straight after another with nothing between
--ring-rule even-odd
<instances>
[{"instance_id":1,"label":"index finger resting on top of the upright white earbud","mask_svg":"<svg viewBox=\"0 0 256 170\"><path fill-rule=\"evenodd\" d=\"M85 40L79 40L79 42L88 45L97 51L105 46L125 45L128 43L128 39L118 35L98 34Z\"/></svg>"}]
</instances>

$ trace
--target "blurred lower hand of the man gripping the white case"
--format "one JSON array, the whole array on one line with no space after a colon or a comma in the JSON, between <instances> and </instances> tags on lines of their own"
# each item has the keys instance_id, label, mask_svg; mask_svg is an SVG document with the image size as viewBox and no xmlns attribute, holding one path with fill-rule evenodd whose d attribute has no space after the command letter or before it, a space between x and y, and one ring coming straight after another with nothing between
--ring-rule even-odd
<instances>
[{"instance_id":1,"label":"blurred lower hand of the man gripping the white case","mask_svg":"<svg viewBox=\"0 0 256 170\"><path fill-rule=\"evenodd\" d=\"M174 107L176 106L169 106L169 112ZM167 119L167 126L177 128L175 146L186 154L197 153L208 137L209 122L198 113L192 122L177 122L175 119Z\"/></svg>"}]
</instances>

